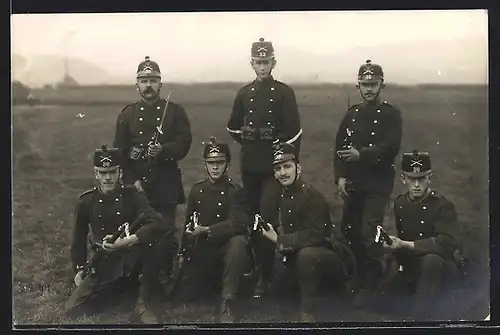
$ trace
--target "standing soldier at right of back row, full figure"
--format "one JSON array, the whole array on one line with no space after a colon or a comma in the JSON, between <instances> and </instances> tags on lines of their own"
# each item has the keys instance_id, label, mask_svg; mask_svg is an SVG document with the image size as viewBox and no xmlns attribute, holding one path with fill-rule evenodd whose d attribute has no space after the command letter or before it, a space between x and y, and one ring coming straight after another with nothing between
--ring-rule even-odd
<instances>
[{"instance_id":1,"label":"standing soldier at right of back row, full figure","mask_svg":"<svg viewBox=\"0 0 500 335\"><path fill-rule=\"evenodd\" d=\"M384 273L383 248L374 243L394 187L394 159L402 138L401 112L380 100L382 67L370 60L358 71L363 102L344 116L335 139L334 173L344 200L342 230L356 255L362 304L380 284Z\"/></svg>"}]
</instances>

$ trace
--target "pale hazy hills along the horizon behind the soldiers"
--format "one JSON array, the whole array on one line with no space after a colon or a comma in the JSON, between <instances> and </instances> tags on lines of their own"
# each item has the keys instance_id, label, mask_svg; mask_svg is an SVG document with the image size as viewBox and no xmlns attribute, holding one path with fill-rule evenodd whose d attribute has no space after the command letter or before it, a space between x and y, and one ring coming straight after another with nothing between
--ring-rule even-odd
<instances>
[{"instance_id":1,"label":"pale hazy hills along the horizon behind the soldiers","mask_svg":"<svg viewBox=\"0 0 500 335\"><path fill-rule=\"evenodd\" d=\"M329 42L330 43L330 42ZM335 43L335 41L331 41ZM432 47L430 47L430 45ZM355 83L359 65L367 59L383 66L388 84L487 84L487 41L463 39L442 42L408 42L395 45L341 49L331 55L314 54L307 48L276 47L275 77L288 83ZM451 56L450 56L451 55ZM63 77L63 59L57 56L13 56L14 79L29 86L55 84ZM207 61L203 55L188 54L182 62L160 66L164 81L248 82L253 79L247 56ZM169 68L167 68L167 65ZM80 85L132 84L135 67L120 73L103 65L69 59L70 74Z\"/></svg>"}]
</instances>

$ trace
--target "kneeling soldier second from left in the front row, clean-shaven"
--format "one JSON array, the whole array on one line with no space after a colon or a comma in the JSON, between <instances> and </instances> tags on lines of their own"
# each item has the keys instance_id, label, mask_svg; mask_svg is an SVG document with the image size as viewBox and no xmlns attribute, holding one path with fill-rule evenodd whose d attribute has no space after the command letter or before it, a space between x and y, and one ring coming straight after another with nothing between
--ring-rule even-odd
<instances>
[{"instance_id":1,"label":"kneeling soldier second from left in the front row, clean-shaven","mask_svg":"<svg viewBox=\"0 0 500 335\"><path fill-rule=\"evenodd\" d=\"M250 216L243 189L227 175L231 163L228 145L212 137L203 159L207 178L194 184L188 196L181 249L189 241L191 250L187 250L189 262L184 261L186 271L180 281L187 300L222 286L219 321L233 322L234 301L247 263ZM190 225L193 215L197 217L195 226Z\"/></svg>"}]
</instances>

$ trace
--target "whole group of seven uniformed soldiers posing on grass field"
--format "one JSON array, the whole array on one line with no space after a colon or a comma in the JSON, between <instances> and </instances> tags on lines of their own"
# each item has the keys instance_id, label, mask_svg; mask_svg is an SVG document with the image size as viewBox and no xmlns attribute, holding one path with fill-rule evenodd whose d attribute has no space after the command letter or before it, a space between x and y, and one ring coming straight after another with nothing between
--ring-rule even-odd
<instances>
[{"instance_id":1,"label":"whole group of seven uniformed soldiers posing on grass field","mask_svg":"<svg viewBox=\"0 0 500 335\"><path fill-rule=\"evenodd\" d=\"M301 322L315 320L325 296L338 306L407 301L412 318L436 317L437 297L449 292L444 284L462 270L457 214L429 187L430 156L417 150L403 153L407 190L391 201L403 127L401 112L380 99L381 66L367 61L359 68L362 102L348 109L335 139L339 224L303 177L296 97L271 75L271 42L252 43L251 66L256 79L238 91L227 122L241 145L243 185L229 177L228 144L212 137L203 150L206 178L186 198L178 162L191 148L189 118L170 95L160 98L158 64L149 57L139 64L141 99L119 114L112 147L95 151L97 186L77 201L76 288L67 314L92 313L118 282L137 281L134 315L148 324L162 322L162 301L197 301L211 292L220 294L218 320L234 322L235 302L252 284L253 298L274 297L283 311L298 298ZM394 222L384 222L387 208ZM393 235L384 228L391 224Z\"/></svg>"}]
</instances>

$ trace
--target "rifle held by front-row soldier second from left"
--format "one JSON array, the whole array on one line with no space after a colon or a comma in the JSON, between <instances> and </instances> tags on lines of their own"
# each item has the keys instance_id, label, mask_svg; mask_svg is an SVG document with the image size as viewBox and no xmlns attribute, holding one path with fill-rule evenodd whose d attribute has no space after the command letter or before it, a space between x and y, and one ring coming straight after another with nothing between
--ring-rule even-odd
<instances>
[{"instance_id":1,"label":"rifle held by front-row soldier second from left","mask_svg":"<svg viewBox=\"0 0 500 335\"><path fill-rule=\"evenodd\" d=\"M184 270L184 263L191 260L191 252L196 247L198 237L193 241L191 236L186 234L186 229L194 230L198 226L198 212L194 211L190 217L190 220L185 225L185 230L182 232L181 244L179 246L179 252L176 255L176 261L174 262L174 268L172 270L172 275L170 277L170 285L167 287L167 296L172 298L175 289L177 288L180 279L182 278L182 273Z\"/></svg>"}]
</instances>

